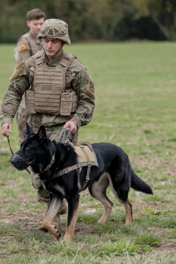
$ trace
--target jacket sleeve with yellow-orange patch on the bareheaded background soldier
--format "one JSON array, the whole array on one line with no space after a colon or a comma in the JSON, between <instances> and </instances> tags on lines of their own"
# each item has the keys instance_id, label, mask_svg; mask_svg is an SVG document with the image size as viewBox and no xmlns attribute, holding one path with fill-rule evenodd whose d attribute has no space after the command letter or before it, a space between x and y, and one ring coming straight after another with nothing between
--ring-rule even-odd
<instances>
[{"instance_id":1,"label":"jacket sleeve with yellow-orange patch on the bareheaded background soldier","mask_svg":"<svg viewBox=\"0 0 176 264\"><path fill-rule=\"evenodd\" d=\"M31 56L28 40L25 37L21 37L18 40L17 46L13 52L16 63L20 63L24 60L27 60Z\"/></svg>"}]
</instances>

